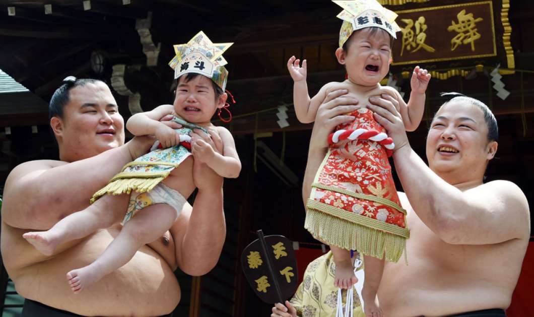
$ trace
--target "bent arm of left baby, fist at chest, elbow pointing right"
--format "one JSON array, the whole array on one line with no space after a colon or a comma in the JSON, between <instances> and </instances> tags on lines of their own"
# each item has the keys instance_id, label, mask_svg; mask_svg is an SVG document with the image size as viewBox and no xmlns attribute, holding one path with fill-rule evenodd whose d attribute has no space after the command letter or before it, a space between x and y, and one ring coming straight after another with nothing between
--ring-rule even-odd
<instances>
[{"instance_id":1,"label":"bent arm of left baby, fist at chest, elbow pointing right","mask_svg":"<svg viewBox=\"0 0 534 317\"><path fill-rule=\"evenodd\" d=\"M223 153L219 154L203 140L193 138L191 152L195 160L206 163L217 174L226 178L236 178L241 172L241 161L235 150L235 142L229 130L215 127L223 143ZM211 133L211 131L210 131Z\"/></svg>"}]
</instances>

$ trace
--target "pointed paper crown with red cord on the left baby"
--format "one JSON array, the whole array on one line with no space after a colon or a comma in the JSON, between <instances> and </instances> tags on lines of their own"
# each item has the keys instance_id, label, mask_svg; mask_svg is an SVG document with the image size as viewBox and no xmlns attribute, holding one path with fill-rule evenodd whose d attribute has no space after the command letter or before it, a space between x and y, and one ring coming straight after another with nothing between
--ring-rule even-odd
<instances>
[{"instance_id":1,"label":"pointed paper crown with red cord on the left baby","mask_svg":"<svg viewBox=\"0 0 534 317\"><path fill-rule=\"evenodd\" d=\"M200 31L186 44L176 44L176 56L169 61L174 69L174 78L187 73L197 73L211 78L224 91L228 71L223 53L233 43L212 43L204 32Z\"/></svg>"}]
</instances>

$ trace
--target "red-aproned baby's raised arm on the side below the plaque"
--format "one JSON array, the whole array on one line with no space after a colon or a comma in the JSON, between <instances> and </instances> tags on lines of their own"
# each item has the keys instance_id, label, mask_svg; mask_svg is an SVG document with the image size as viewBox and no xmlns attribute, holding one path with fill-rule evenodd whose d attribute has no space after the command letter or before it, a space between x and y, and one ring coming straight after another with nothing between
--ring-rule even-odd
<instances>
[{"instance_id":1,"label":"red-aproned baby's raised arm on the side below the plaque","mask_svg":"<svg viewBox=\"0 0 534 317\"><path fill-rule=\"evenodd\" d=\"M430 81L430 74L426 69L415 66L412 73L412 80L410 81L412 92L410 93L410 100L408 104L404 103L400 94L397 99L399 100L399 112L404 122L404 128L406 131L414 131L421 123L423 113L425 112L425 91Z\"/></svg>"}]
</instances>

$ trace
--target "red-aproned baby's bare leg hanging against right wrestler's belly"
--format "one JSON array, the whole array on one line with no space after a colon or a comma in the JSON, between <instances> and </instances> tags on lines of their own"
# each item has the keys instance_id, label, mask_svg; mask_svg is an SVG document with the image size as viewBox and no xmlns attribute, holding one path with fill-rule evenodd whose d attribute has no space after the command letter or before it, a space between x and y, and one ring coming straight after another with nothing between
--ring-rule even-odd
<instances>
[{"instance_id":1,"label":"red-aproned baby's bare leg hanging against right wrestler's belly","mask_svg":"<svg viewBox=\"0 0 534 317\"><path fill-rule=\"evenodd\" d=\"M365 281L362 289L362 299L364 300L364 310L366 317L383 317L384 313L378 304L376 291L382 279L384 270L384 259L380 260L370 256L364 256Z\"/></svg>"}]
</instances>

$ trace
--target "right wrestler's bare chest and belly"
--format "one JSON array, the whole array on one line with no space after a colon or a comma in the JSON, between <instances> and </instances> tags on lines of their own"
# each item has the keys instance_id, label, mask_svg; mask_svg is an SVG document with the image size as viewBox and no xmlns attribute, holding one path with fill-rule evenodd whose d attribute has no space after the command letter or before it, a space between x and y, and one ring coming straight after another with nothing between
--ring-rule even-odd
<instances>
[{"instance_id":1,"label":"right wrestler's bare chest and belly","mask_svg":"<svg viewBox=\"0 0 534 317\"><path fill-rule=\"evenodd\" d=\"M409 218L408 265L388 262L379 300L387 316L443 316L489 308L506 309L521 261L511 252L516 241L451 245L420 220Z\"/></svg>"}]
</instances>

